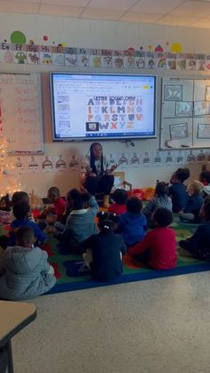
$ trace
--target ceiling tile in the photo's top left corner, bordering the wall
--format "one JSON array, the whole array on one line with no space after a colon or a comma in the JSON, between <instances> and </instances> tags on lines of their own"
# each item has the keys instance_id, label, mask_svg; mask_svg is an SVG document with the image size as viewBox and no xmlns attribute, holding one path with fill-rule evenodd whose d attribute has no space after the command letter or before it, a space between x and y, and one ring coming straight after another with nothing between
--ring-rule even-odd
<instances>
[{"instance_id":1,"label":"ceiling tile in the photo's top left corner, bordering the wall","mask_svg":"<svg viewBox=\"0 0 210 373\"><path fill-rule=\"evenodd\" d=\"M15 2L0 2L0 12L13 12L23 14L36 14L39 4L37 3L15 3Z\"/></svg>"}]
</instances>

